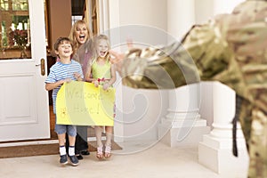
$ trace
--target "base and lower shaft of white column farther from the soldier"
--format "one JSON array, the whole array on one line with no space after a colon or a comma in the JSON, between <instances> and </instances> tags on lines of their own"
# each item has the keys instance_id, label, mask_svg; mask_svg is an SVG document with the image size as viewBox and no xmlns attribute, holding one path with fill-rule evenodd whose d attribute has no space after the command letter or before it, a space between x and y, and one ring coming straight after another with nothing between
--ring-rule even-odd
<instances>
[{"instance_id":1,"label":"base and lower shaft of white column farther from the soldier","mask_svg":"<svg viewBox=\"0 0 267 178\"><path fill-rule=\"evenodd\" d=\"M185 85L169 92L169 109L158 126L158 136L171 147L197 146L210 132L199 115L200 84Z\"/></svg>"}]
</instances>

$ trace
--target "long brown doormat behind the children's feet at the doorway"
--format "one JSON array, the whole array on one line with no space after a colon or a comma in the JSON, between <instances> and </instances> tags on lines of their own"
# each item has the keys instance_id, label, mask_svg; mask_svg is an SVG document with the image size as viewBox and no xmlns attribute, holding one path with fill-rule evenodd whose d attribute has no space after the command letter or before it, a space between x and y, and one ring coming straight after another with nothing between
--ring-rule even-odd
<instances>
[{"instance_id":1,"label":"long brown doormat behind the children's feet at the doorway","mask_svg":"<svg viewBox=\"0 0 267 178\"><path fill-rule=\"evenodd\" d=\"M90 152L96 151L96 142L88 142L88 150ZM116 142L112 142L112 150L121 150L122 148ZM36 145L23 145L12 147L1 147L0 158L19 158L31 157L41 155L56 155L59 154L59 144L36 144Z\"/></svg>"}]
</instances>

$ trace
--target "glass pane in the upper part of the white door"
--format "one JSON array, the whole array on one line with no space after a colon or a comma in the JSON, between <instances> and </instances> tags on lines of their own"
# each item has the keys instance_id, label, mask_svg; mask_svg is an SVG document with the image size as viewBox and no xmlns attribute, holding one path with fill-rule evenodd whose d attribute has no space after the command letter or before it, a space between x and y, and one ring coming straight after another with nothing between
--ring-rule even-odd
<instances>
[{"instance_id":1,"label":"glass pane in the upper part of the white door","mask_svg":"<svg viewBox=\"0 0 267 178\"><path fill-rule=\"evenodd\" d=\"M0 60L31 58L28 0L0 0Z\"/></svg>"}]
</instances>

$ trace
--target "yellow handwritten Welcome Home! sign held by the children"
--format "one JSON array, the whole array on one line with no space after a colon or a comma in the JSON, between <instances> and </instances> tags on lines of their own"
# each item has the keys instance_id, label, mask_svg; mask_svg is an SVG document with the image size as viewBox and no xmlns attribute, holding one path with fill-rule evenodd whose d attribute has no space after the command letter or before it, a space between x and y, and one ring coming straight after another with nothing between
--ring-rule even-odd
<instances>
[{"instance_id":1,"label":"yellow handwritten Welcome Home! sign held by the children","mask_svg":"<svg viewBox=\"0 0 267 178\"><path fill-rule=\"evenodd\" d=\"M71 81L61 86L56 100L58 125L114 125L115 89Z\"/></svg>"}]
</instances>

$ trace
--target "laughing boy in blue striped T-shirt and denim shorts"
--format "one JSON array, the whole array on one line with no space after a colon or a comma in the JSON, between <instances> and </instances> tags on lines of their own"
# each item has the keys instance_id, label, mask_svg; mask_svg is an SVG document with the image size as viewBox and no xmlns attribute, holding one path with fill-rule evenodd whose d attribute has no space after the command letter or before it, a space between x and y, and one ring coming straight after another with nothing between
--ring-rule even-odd
<instances>
[{"instance_id":1,"label":"laughing boy in blue striped T-shirt and denim shorts","mask_svg":"<svg viewBox=\"0 0 267 178\"><path fill-rule=\"evenodd\" d=\"M82 80L83 71L81 65L77 61L71 60L73 46L68 37L60 37L54 44L54 51L58 55L60 61L57 61L50 69L50 73L45 80L45 89L53 90L53 112L56 114L56 97L61 85L71 80ZM55 132L58 134L60 144L60 163L66 165L68 157L65 148L66 133L69 135L69 160L72 166L78 165L78 159L75 156L75 139L77 128L75 125L55 125Z\"/></svg>"}]
</instances>

